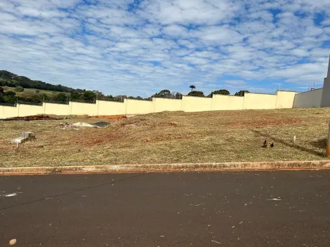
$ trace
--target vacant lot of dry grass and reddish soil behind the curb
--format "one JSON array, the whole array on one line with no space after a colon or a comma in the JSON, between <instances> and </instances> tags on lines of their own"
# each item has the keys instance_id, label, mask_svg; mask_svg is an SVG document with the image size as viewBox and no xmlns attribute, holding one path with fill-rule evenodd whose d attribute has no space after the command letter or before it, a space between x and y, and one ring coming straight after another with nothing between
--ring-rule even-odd
<instances>
[{"instance_id":1,"label":"vacant lot of dry grass and reddish soil behind the curb","mask_svg":"<svg viewBox=\"0 0 330 247\"><path fill-rule=\"evenodd\" d=\"M0 121L0 166L325 159L329 117L330 108L163 112L80 130L58 125L100 119ZM9 141L22 131L37 140L15 152ZM275 147L261 147L264 140Z\"/></svg>"}]
</instances>

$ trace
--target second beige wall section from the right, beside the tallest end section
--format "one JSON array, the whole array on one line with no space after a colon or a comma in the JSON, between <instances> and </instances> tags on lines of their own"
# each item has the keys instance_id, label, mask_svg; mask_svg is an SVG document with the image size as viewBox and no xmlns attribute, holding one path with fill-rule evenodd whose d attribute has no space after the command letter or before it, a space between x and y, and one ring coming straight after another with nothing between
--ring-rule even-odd
<instances>
[{"instance_id":1,"label":"second beige wall section from the right, beside the tallest end section","mask_svg":"<svg viewBox=\"0 0 330 247\"><path fill-rule=\"evenodd\" d=\"M275 109L277 95L245 93L243 109Z\"/></svg>"}]
</instances>

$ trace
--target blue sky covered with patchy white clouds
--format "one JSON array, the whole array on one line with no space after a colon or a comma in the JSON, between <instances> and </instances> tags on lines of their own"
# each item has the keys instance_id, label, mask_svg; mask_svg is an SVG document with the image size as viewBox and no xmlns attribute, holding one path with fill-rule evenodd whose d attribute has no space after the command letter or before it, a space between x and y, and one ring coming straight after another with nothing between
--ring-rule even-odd
<instances>
[{"instance_id":1,"label":"blue sky covered with patchy white clouds","mask_svg":"<svg viewBox=\"0 0 330 247\"><path fill-rule=\"evenodd\" d=\"M0 69L149 96L322 86L329 0L1 0Z\"/></svg>"}]
</instances>

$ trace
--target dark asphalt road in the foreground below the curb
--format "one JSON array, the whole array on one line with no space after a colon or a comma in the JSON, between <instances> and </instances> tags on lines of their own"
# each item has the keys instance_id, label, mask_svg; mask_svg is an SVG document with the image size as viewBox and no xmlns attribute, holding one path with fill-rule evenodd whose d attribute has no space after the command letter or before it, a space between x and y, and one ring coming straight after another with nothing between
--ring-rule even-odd
<instances>
[{"instance_id":1,"label":"dark asphalt road in the foreground below the curb","mask_svg":"<svg viewBox=\"0 0 330 247\"><path fill-rule=\"evenodd\" d=\"M0 176L0 246L330 246L330 171Z\"/></svg>"}]
</instances>

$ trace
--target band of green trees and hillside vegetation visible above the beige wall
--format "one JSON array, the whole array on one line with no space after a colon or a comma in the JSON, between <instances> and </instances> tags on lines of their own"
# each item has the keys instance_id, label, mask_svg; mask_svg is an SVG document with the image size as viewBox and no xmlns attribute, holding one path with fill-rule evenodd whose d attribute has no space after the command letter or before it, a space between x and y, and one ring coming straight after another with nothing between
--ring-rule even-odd
<instances>
[{"instance_id":1,"label":"band of green trees and hillside vegetation visible above the beige wall","mask_svg":"<svg viewBox=\"0 0 330 247\"><path fill-rule=\"evenodd\" d=\"M4 87L10 87L10 89ZM13 91L11 88L15 88ZM30 90L33 88L34 90ZM230 95L230 91L221 89L213 91L209 95L204 95L202 91L196 91L196 86L191 85L189 96L212 98L214 94ZM26 90L29 89L29 90ZM52 91L52 92L42 92ZM236 96L244 96L249 91L239 91ZM151 95L149 98L140 96L133 97L127 95L104 95L100 91L86 91L85 89L74 89L62 85L47 84L43 81L34 81L25 76L18 76L6 70L0 70L0 102L14 104L15 102L68 102L70 100L95 102L95 100L112 100L123 102L124 99L152 100L152 98L182 99L183 95L178 92L171 92L167 89Z\"/></svg>"}]
</instances>

